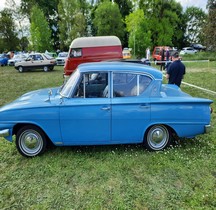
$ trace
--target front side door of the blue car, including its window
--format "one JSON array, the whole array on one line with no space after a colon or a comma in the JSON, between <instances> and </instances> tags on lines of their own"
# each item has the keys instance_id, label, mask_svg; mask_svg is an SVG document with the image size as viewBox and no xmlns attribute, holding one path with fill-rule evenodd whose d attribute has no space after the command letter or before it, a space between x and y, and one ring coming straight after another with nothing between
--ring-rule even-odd
<instances>
[{"instance_id":1,"label":"front side door of the blue car, including its window","mask_svg":"<svg viewBox=\"0 0 216 210\"><path fill-rule=\"evenodd\" d=\"M108 73L86 73L81 76L72 98L64 99L60 107L64 145L110 143L110 98L104 95L107 85Z\"/></svg>"}]
</instances>

